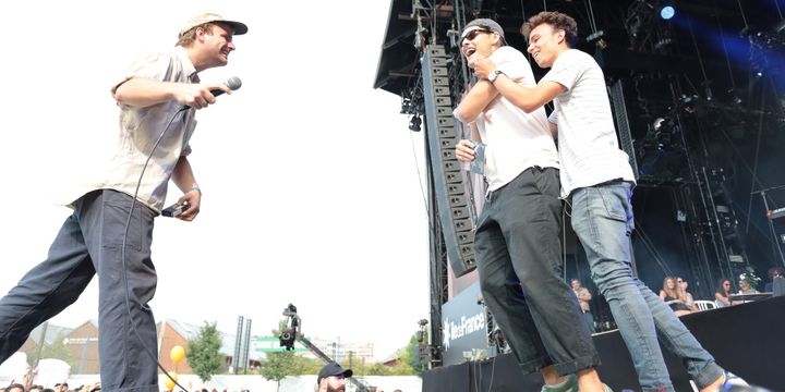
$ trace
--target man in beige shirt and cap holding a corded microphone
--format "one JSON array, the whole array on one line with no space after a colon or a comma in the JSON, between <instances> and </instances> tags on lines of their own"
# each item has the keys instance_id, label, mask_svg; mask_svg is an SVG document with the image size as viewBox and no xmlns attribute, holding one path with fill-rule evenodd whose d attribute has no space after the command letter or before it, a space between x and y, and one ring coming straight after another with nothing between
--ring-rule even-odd
<instances>
[{"instance_id":1,"label":"man in beige shirt and cap holding a corded microphone","mask_svg":"<svg viewBox=\"0 0 785 392\"><path fill-rule=\"evenodd\" d=\"M150 258L153 220L162 210L169 180L193 220L202 191L188 155L195 111L216 102L218 83L197 73L222 66L234 50L232 36L247 26L205 13L179 29L166 53L140 61L111 89L120 108L118 144L106 172L68 200L65 220L47 259L0 299L0 363L31 331L59 314L98 275L101 389L157 392L157 336L148 302L156 289Z\"/></svg>"}]
</instances>

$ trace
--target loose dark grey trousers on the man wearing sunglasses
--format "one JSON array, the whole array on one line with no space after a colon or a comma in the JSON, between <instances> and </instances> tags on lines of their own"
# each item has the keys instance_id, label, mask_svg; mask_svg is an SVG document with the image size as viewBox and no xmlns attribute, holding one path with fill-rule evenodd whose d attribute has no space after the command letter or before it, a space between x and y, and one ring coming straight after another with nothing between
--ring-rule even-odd
<instances>
[{"instance_id":1,"label":"loose dark grey trousers on the man wearing sunglasses","mask_svg":"<svg viewBox=\"0 0 785 392\"><path fill-rule=\"evenodd\" d=\"M487 197L474 237L483 299L526 373L600 365L561 277L558 196L558 170L527 169Z\"/></svg>"}]
</instances>

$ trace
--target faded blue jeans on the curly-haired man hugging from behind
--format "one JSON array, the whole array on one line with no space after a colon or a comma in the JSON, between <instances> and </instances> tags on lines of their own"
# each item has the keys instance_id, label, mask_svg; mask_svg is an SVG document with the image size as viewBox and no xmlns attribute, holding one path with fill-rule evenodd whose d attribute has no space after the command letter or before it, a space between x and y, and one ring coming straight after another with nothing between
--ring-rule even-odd
<instances>
[{"instance_id":1,"label":"faded blue jeans on the curly-haired man hugging from behind","mask_svg":"<svg viewBox=\"0 0 785 392\"><path fill-rule=\"evenodd\" d=\"M630 184L578 188L570 195L572 229L583 245L592 279L605 296L632 357L643 391L673 391L659 342L681 359L699 388L723 373L665 302L632 273Z\"/></svg>"}]
</instances>

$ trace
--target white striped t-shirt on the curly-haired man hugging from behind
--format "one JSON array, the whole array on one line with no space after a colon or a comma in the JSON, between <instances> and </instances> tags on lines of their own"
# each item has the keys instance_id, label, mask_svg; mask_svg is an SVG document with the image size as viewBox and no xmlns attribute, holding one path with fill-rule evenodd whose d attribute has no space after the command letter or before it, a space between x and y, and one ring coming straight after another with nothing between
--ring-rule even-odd
<instances>
[{"instance_id":1,"label":"white striped t-shirt on the curly-haired man hugging from behind","mask_svg":"<svg viewBox=\"0 0 785 392\"><path fill-rule=\"evenodd\" d=\"M629 157L619 149L605 76L594 59L568 49L542 82L567 88L554 99L550 121L558 124L561 196L576 188L621 179L635 183Z\"/></svg>"}]
</instances>

